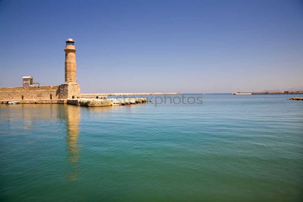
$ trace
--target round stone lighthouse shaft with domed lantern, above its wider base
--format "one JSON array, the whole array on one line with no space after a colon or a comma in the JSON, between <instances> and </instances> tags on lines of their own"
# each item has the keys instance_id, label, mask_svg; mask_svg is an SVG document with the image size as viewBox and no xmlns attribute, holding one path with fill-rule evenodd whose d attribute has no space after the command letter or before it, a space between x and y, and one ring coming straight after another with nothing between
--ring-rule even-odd
<instances>
[{"instance_id":1,"label":"round stone lighthouse shaft with domed lantern, above its wider base","mask_svg":"<svg viewBox=\"0 0 303 202\"><path fill-rule=\"evenodd\" d=\"M76 78L76 54L73 39L66 40L65 46L65 83L77 83Z\"/></svg>"}]
</instances>

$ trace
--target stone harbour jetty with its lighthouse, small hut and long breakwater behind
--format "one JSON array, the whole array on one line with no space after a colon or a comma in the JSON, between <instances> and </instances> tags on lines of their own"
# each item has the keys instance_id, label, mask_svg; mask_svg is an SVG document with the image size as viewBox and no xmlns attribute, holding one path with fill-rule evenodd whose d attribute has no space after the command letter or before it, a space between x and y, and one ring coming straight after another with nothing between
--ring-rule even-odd
<instances>
[{"instance_id":1,"label":"stone harbour jetty with its lighthouse, small hut and long breakwater behind","mask_svg":"<svg viewBox=\"0 0 303 202\"><path fill-rule=\"evenodd\" d=\"M113 106L146 103L146 98L108 99L107 96L179 95L181 93L81 93L76 79L75 42L66 40L65 82L57 86L40 86L32 76L24 76L23 86L0 88L0 103L18 101L22 103L56 103L81 106ZM38 86L33 86L38 84Z\"/></svg>"}]
</instances>

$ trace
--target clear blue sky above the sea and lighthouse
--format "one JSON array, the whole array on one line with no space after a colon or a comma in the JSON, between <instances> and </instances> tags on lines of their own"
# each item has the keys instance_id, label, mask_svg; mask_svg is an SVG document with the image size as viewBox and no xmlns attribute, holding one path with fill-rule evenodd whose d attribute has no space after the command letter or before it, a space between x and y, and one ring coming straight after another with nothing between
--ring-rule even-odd
<instances>
[{"instance_id":1,"label":"clear blue sky above the sea and lighthouse","mask_svg":"<svg viewBox=\"0 0 303 202\"><path fill-rule=\"evenodd\" d=\"M0 87L64 83L68 38L82 93L303 88L301 0L3 0Z\"/></svg>"}]
</instances>

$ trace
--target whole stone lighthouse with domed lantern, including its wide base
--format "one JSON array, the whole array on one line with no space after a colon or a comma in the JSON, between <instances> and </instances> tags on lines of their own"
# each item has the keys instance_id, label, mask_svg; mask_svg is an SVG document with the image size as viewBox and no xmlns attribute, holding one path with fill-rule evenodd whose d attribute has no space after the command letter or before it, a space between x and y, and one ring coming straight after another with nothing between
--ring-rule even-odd
<instances>
[{"instance_id":1,"label":"whole stone lighthouse with domed lantern, including its wide base","mask_svg":"<svg viewBox=\"0 0 303 202\"><path fill-rule=\"evenodd\" d=\"M60 99L80 98L80 87L76 78L75 42L66 40L65 46L65 82L60 86Z\"/></svg>"}]
</instances>

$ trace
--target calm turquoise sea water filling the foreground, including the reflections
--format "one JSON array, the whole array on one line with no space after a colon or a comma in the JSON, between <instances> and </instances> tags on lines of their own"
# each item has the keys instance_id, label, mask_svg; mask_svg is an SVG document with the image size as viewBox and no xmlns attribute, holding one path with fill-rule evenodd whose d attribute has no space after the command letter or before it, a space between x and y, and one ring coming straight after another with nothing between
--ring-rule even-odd
<instances>
[{"instance_id":1,"label":"calm turquoise sea water filling the foreground, including the reflections","mask_svg":"<svg viewBox=\"0 0 303 202\"><path fill-rule=\"evenodd\" d=\"M0 104L0 200L302 201L303 102L202 96Z\"/></svg>"}]
</instances>

